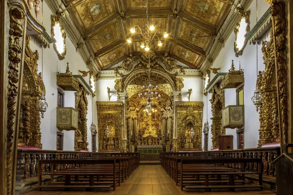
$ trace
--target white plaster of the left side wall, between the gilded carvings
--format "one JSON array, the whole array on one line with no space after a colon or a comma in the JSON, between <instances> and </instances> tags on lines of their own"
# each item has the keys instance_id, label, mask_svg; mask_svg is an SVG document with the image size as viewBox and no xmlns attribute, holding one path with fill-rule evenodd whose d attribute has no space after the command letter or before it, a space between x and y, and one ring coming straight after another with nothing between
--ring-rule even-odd
<instances>
[{"instance_id":1,"label":"white plaster of the left side wall, between the gilded carvings","mask_svg":"<svg viewBox=\"0 0 293 195\"><path fill-rule=\"evenodd\" d=\"M51 10L45 1L43 1L43 24L46 27L46 31L51 35ZM87 70L81 56L76 53L76 49L71 42L71 40L66 37L65 40L67 53L65 59L59 60L58 56L53 48L53 44L50 48L43 49L43 82L46 88L46 101L48 103L48 109L44 114L44 118L41 118L41 133L42 133L42 149L44 150L56 150L57 142L57 132L62 132L63 137L63 150L73 151L74 150L74 131L60 131L56 127L56 107L57 107L57 72L65 72L66 62L69 62L70 72L74 75L80 74L78 70ZM41 45L31 37L31 49L33 51L38 50L40 59L39 72L42 72L42 48ZM84 78L86 82L89 82L89 76ZM75 107L75 95L74 92L65 91L64 94L64 104L67 107ZM92 122L92 97L87 95L88 100L88 114L87 114L87 128L88 137L87 141L89 143L88 148L91 151L91 134L89 131L90 124ZM94 109L96 109L94 107ZM94 123L97 125L97 117L94 117Z\"/></svg>"}]
</instances>

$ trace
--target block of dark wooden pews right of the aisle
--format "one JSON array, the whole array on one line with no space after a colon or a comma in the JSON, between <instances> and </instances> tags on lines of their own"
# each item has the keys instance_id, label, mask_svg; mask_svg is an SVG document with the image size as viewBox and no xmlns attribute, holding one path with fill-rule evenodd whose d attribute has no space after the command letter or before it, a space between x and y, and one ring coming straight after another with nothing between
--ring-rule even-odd
<instances>
[{"instance_id":1,"label":"block of dark wooden pews right of the aisle","mask_svg":"<svg viewBox=\"0 0 293 195\"><path fill-rule=\"evenodd\" d=\"M260 158L162 156L161 160L163 168L174 179L176 185L180 182L181 190L184 187L206 190L229 188L232 191L234 188L262 188L262 161ZM229 168L228 163L233 164L233 168ZM235 163L241 163L242 170L236 170ZM245 163L258 163L259 172L245 172ZM217 166L223 164L226 166ZM249 174L259 175L259 185L245 185L244 176ZM240 179L235 179L236 176L239 176Z\"/></svg>"}]
</instances>

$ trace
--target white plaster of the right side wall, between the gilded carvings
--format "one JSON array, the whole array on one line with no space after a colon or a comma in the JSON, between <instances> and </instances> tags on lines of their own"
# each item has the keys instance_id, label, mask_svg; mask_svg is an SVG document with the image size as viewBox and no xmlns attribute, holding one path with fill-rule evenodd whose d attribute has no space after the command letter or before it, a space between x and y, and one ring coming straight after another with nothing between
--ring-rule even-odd
<instances>
[{"instance_id":1,"label":"white plaster of the right side wall, between the gilded carvings","mask_svg":"<svg viewBox=\"0 0 293 195\"><path fill-rule=\"evenodd\" d=\"M270 4L266 1L258 1L258 20L263 16L263 14L269 9ZM251 2L251 5L247 10L251 10L250 16L250 28L252 29L256 24L256 0ZM246 11L246 10L245 10ZM270 39L269 32L267 32L263 40ZM236 70L239 69L239 61L241 61L241 68L244 70L244 104L245 104L245 126L244 126L244 148L255 148L258 143L258 129L259 129L259 114L256 112L255 106L251 101L253 92L255 90L256 84L256 45L246 45L243 51L243 55L238 58L235 57L234 53L234 41L235 33L232 31L229 38L225 41L225 47L223 47L214 60L212 67L221 68L219 72L228 72L231 67L231 60L234 60L234 65ZM261 45L257 46L258 52L258 70L264 70L263 64L263 54L261 52ZM211 73L210 80L214 77ZM211 94L208 94L208 99L211 98ZM203 98L206 102L206 97ZM235 89L225 89L225 106L236 104L236 90ZM211 118L211 107L210 102L208 102L208 118ZM206 112L206 107L204 108L204 113ZM204 114L204 121L206 121L206 114ZM211 120L209 119L209 124L211 125ZM226 135L233 135L233 147L237 149L237 129L226 129ZM203 142L204 143L204 142ZM211 134L209 131L209 150L211 149Z\"/></svg>"}]
</instances>

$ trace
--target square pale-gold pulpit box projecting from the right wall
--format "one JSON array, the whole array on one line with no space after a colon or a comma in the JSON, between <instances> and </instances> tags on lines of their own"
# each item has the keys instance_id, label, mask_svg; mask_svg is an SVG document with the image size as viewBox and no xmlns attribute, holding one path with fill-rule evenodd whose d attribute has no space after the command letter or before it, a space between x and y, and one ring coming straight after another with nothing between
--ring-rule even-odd
<instances>
[{"instance_id":1,"label":"square pale-gold pulpit box projecting from the right wall","mask_svg":"<svg viewBox=\"0 0 293 195\"><path fill-rule=\"evenodd\" d=\"M234 129L244 125L244 105L229 105L222 110L222 126Z\"/></svg>"}]
</instances>

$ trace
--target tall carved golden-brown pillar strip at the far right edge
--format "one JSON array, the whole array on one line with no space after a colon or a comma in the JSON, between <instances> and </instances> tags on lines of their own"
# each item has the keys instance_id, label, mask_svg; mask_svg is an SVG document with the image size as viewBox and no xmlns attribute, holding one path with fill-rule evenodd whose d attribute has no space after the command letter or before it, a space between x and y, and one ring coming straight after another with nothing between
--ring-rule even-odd
<instances>
[{"instance_id":1,"label":"tall carved golden-brown pillar strip at the far right edge","mask_svg":"<svg viewBox=\"0 0 293 195\"><path fill-rule=\"evenodd\" d=\"M286 10L283 1L272 0L272 28L277 80L277 102L281 143L288 142L288 102L287 102L287 47Z\"/></svg>"}]
</instances>

